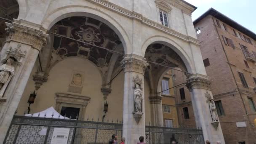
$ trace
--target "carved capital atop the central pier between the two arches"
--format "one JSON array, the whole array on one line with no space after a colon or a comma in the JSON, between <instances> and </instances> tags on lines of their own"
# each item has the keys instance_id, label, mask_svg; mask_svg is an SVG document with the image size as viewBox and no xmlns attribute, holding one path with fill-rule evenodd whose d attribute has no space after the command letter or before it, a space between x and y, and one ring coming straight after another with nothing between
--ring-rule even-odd
<instances>
[{"instance_id":1,"label":"carved capital atop the central pier between the two arches","mask_svg":"<svg viewBox=\"0 0 256 144\"><path fill-rule=\"evenodd\" d=\"M147 61L145 61L144 57L135 54L125 55L121 64L123 65L125 72L138 72L143 75L149 65Z\"/></svg>"}]
</instances>

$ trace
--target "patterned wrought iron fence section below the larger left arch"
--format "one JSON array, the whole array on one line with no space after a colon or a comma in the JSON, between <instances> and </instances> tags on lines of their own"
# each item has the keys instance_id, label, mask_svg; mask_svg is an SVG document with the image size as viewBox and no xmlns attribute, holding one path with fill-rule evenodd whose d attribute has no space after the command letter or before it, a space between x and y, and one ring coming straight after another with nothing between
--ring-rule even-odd
<instances>
[{"instance_id":1,"label":"patterned wrought iron fence section below the larger left arch","mask_svg":"<svg viewBox=\"0 0 256 144\"><path fill-rule=\"evenodd\" d=\"M108 144L112 134L120 141L123 124L14 116L4 144L51 144L56 128L68 129L67 144Z\"/></svg>"}]
</instances>

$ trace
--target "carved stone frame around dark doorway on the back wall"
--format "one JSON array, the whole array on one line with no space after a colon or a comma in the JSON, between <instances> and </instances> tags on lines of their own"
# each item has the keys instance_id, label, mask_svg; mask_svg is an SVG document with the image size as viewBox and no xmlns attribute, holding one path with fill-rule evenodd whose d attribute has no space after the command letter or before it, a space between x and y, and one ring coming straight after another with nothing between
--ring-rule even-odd
<instances>
[{"instance_id":1,"label":"carved stone frame around dark doorway on the back wall","mask_svg":"<svg viewBox=\"0 0 256 144\"><path fill-rule=\"evenodd\" d=\"M78 120L83 120L85 115L85 109L91 100L88 96L79 96L69 93L55 93L56 105L55 109L57 112L61 113L62 107L75 107L79 108Z\"/></svg>"}]
</instances>

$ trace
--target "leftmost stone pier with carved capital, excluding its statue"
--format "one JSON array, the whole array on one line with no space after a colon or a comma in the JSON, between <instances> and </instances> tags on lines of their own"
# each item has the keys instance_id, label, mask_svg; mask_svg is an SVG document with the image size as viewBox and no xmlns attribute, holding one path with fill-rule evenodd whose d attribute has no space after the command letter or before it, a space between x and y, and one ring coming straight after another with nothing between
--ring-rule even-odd
<instances>
[{"instance_id":1,"label":"leftmost stone pier with carved capital, excluding its statue","mask_svg":"<svg viewBox=\"0 0 256 144\"><path fill-rule=\"evenodd\" d=\"M34 67L38 53L47 42L48 35L43 31L27 27L13 22L6 23L9 36L6 42L8 49L2 51L3 59L9 57L16 59L14 75L5 89L5 93L0 103L0 143L3 143L5 135L11 124L13 115L18 107L23 91L27 85L29 75ZM3 63L2 63L3 64Z\"/></svg>"}]
</instances>

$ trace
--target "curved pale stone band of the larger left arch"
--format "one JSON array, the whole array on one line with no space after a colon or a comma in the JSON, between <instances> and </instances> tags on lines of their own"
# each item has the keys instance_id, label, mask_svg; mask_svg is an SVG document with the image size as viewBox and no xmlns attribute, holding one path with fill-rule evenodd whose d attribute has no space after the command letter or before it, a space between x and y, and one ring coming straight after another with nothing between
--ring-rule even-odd
<instances>
[{"instance_id":1,"label":"curved pale stone band of the larger left arch","mask_svg":"<svg viewBox=\"0 0 256 144\"><path fill-rule=\"evenodd\" d=\"M49 30L58 21L72 16L90 17L107 24L107 26L109 26L120 38L123 44L125 54L132 53L131 42L129 40L128 34L125 31L125 29L121 26L121 24L118 23L109 14L104 13L103 11L99 11L95 8L80 5L58 8L56 11L53 11L52 13L45 16L42 22L42 26L43 28Z\"/></svg>"}]
</instances>

